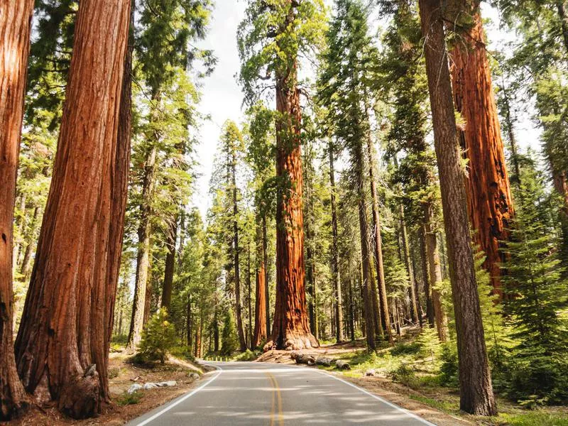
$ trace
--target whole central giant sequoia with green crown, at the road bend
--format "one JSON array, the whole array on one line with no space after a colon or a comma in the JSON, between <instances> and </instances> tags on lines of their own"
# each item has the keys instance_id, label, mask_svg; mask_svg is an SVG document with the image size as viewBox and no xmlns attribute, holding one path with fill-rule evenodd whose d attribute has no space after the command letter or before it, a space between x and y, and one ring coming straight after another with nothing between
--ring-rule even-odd
<instances>
[{"instance_id":1,"label":"whole central giant sequoia with green crown, at the road bend","mask_svg":"<svg viewBox=\"0 0 568 426\"><path fill-rule=\"evenodd\" d=\"M276 302L266 348L319 346L310 332L305 297L297 57L320 38L322 11L320 0L250 0L239 28L240 80L247 101L258 99L265 80L273 80L276 100Z\"/></svg>"}]
</instances>

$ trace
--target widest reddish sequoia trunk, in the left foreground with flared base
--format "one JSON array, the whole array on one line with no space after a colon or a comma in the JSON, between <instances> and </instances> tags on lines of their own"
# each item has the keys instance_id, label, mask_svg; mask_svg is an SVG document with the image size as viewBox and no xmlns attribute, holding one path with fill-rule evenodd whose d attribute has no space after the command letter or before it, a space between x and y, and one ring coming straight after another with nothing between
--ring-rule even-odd
<instances>
[{"instance_id":1,"label":"widest reddish sequoia trunk, in the left foreground with flared base","mask_svg":"<svg viewBox=\"0 0 568 426\"><path fill-rule=\"evenodd\" d=\"M129 0L83 0L77 12L53 179L16 339L26 390L72 417L95 415L109 396L116 282L109 241L129 9Z\"/></svg>"}]
</instances>

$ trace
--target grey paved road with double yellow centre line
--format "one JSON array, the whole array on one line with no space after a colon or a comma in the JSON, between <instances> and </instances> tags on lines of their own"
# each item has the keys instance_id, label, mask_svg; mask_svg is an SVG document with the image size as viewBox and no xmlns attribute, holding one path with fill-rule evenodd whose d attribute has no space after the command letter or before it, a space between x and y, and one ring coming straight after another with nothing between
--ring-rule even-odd
<instances>
[{"instance_id":1,"label":"grey paved road with double yellow centre line","mask_svg":"<svg viewBox=\"0 0 568 426\"><path fill-rule=\"evenodd\" d=\"M209 362L204 383L127 426L432 425L315 368Z\"/></svg>"}]
</instances>

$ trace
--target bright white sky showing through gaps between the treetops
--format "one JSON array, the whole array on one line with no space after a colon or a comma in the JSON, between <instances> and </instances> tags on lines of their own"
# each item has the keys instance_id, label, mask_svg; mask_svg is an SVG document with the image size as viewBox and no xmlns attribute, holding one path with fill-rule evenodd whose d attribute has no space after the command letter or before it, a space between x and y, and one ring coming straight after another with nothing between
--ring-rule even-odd
<instances>
[{"instance_id":1,"label":"bright white sky showing through gaps between the treetops","mask_svg":"<svg viewBox=\"0 0 568 426\"><path fill-rule=\"evenodd\" d=\"M325 2L332 4L332 0ZM202 48L212 49L218 59L214 73L204 80L200 104L202 114L210 114L211 116L211 120L205 121L202 125L201 142L200 146L197 147L200 178L197 182L194 203L200 209L202 217L205 217L209 207L209 180L221 127L227 119L241 123L244 117L243 94L235 76L240 69L239 53L236 47L236 30L244 18L245 8L246 0L217 0L209 35L204 43L201 43ZM498 14L494 9L484 4L482 10L484 18L491 18L491 23L486 25L488 38L491 40L490 50L514 40L515 35L499 30ZM524 117L519 118L520 124L515 129L515 133L519 138L520 145L523 148L532 146L537 150L540 146L538 143L539 129L536 128L528 114L525 113Z\"/></svg>"}]
</instances>

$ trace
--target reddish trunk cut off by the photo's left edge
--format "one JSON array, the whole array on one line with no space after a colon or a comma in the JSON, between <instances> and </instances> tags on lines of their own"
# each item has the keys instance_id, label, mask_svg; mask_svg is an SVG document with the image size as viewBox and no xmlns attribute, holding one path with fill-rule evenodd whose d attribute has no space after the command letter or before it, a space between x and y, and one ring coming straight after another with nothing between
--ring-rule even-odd
<instances>
[{"instance_id":1,"label":"reddish trunk cut off by the photo's left edge","mask_svg":"<svg viewBox=\"0 0 568 426\"><path fill-rule=\"evenodd\" d=\"M25 405L13 352L13 207L30 50L32 0L0 4L0 420Z\"/></svg>"}]
</instances>

